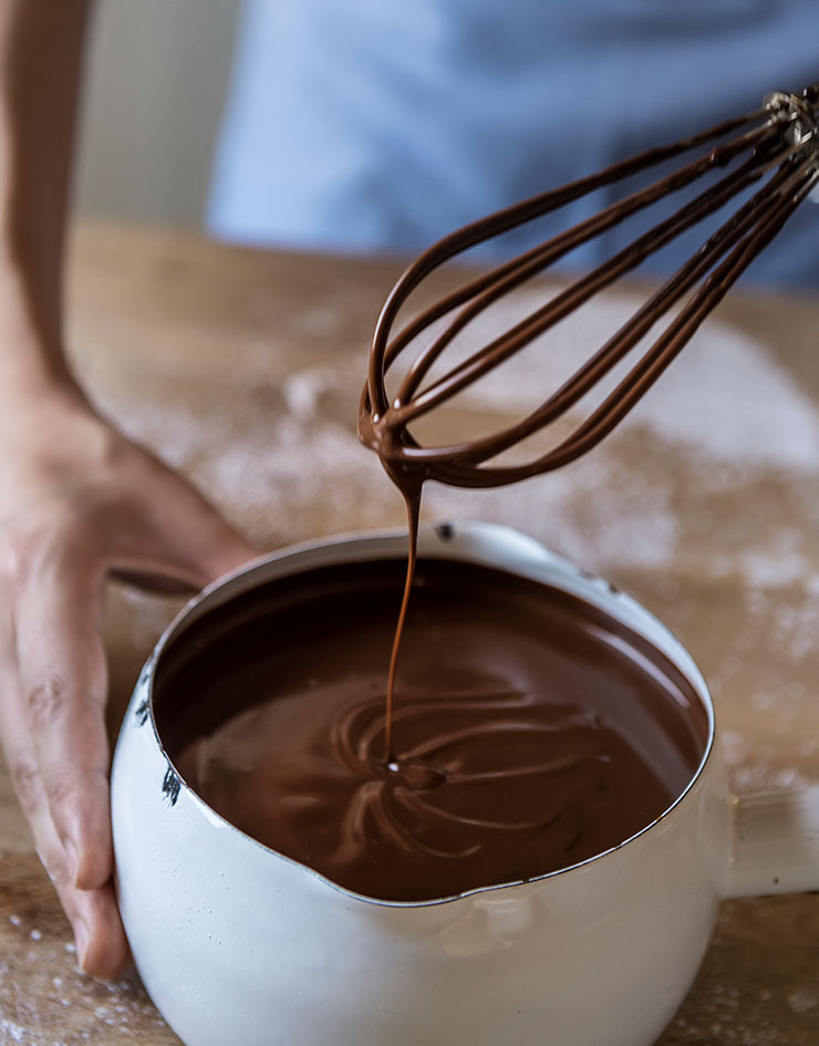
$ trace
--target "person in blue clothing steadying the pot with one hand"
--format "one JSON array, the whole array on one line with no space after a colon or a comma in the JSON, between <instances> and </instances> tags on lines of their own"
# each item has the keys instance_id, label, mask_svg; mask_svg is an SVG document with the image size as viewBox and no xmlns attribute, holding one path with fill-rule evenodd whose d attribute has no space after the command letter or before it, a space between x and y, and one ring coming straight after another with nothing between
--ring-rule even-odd
<instances>
[{"instance_id":1,"label":"person in blue clothing steadying the pot with one hand","mask_svg":"<svg viewBox=\"0 0 819 1046\"><path fill-rule=\"evenodd\" d=\"M0 739L79 962L104 977L127 944L111 883L103 581L196 588L253 550L117 432L65 361L89 8L0 4ZM810 82L816 22L812 0L250 0L210 227L322 249L425 246L672 128L743 112L760 86ZM819 237L805 228L760 262L767 276L816 280Z\"/></svg>"}]
</instances>

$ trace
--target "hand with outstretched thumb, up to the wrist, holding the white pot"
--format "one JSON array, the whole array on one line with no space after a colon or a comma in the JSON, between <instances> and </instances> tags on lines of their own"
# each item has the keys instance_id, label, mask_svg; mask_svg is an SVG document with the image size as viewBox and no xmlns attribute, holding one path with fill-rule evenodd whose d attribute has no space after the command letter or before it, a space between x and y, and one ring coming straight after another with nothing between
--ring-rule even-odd
<instances>
[{"instance_id":1,"label":"hand with outstretched thumb, up to the wrist, holding the white pot","mask_svg":"<svg viewBox=\"0 0 819 1046\"><path fill-rule=\"evenodd\" d=\"M0 414L0 743L77 961L107 977L127 943L112 888L105 578L197 589L253 550L79 394Z\"/></svg>"}]
</instances>

